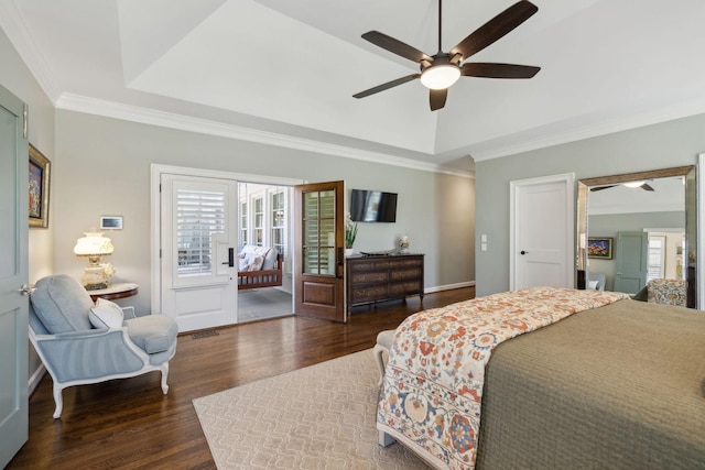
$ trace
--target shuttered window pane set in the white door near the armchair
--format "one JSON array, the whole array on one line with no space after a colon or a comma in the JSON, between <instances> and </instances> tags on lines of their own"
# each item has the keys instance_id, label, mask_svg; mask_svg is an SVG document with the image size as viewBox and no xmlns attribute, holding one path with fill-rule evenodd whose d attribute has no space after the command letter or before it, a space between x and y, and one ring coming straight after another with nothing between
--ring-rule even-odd
<instances>
[{"instance_id":1,"label":"shuttered window pane set in the white door near the armchair","mask_svg":"<svg viewBox=\"0 0 705 470\"><path fill-rule=\"evenodd\" d=\"M225 194L178 189L176 211L177 275L210 275L210 237L225 233Z\"/></svg>"}]
</instances>

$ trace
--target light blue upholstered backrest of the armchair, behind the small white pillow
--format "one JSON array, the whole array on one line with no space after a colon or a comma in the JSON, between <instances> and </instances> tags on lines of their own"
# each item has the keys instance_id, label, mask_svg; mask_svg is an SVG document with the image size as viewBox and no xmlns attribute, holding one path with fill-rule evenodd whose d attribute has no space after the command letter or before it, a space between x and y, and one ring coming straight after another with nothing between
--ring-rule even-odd
<instances>
[{"instance_id":1,"label":"light blue upholstered backrest of the armchair, behind the small white pillow","mask_svg":"<svg viewBox=\"0 0 705 470\"><path fill-rule=\"evenodd\" d=\"M75 278L58 274L41 278L32 293L32 306L52 335L91 328L88 313L94 306L88 292Z\"/></svg>"}]
</instances>

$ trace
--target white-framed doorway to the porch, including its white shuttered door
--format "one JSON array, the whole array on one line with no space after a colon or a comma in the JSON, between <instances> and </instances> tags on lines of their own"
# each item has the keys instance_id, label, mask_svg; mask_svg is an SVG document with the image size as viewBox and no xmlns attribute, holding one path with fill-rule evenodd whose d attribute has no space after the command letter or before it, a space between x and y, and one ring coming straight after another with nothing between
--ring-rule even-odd
<instances>
[{"instance_id":1,"label":"white-framed doorway to the porch, including its white shuttered door","mask_svg":"<svg viewBox=\"0 0 705 470\"><path fill-rule=\"evenodd\" d=\"M151 172L152 310L173 317L180 332L291 315L286 214L301 181L166 165ZM248 244L284 252L282 288L238 288Z\"/></svg>"}]
</instances>

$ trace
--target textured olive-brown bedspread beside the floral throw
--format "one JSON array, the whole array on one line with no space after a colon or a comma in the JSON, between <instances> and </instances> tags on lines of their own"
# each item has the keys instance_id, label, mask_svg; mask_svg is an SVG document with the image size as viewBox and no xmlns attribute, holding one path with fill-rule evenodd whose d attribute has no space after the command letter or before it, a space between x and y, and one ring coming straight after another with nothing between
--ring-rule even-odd
<instances>
[{"instance_id":1,"label":"textured olive-brown bedspread beside the floral throw","mask_svg":"<svg viewBox=\"0 0 705 470\"><path fill-rule=\"evenodd\" d=\"M705 313L627 299L500 345L477 468L705 468Z\"/></svg>"}]
</instances>

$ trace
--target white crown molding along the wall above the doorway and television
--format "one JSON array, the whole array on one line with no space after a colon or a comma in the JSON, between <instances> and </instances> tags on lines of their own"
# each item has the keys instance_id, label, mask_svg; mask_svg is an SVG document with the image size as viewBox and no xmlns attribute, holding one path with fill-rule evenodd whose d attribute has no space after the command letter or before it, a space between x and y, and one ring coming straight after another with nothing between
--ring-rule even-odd
<instances>
[{"instance_id":1,"label":"white crown molding along the wall above the doorway and television","mask_svg":"<svg viewBox=\"0 0 705 470\"><path fill-rule=\"evenodd\" d=\"M162 128L178 129L187 132L216 135L226 139L241 140L247 142L276 145L286 149L315 152L325 155L341 156L345 159L360 160L365 162L380 163L384 165L419 170L423 172L442 173L467 178L475 175L441 165L420 162L411 159L403 159L380 152L370 152L344 145L329 144L310 139L294 138L273 132L259 131L239 125L226 124L223 122L206 119L193 118L173 112L159 111L155 109L142 108L138 106L123 105L74 94L62 94L55 103L57 109L68 111L85 112L106 118L121 119L142 124L158 125ZM432 156L432 155L431 155Z\"/></svg>"}]
</instances>

